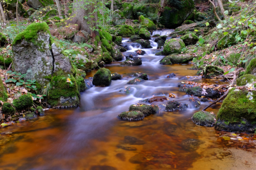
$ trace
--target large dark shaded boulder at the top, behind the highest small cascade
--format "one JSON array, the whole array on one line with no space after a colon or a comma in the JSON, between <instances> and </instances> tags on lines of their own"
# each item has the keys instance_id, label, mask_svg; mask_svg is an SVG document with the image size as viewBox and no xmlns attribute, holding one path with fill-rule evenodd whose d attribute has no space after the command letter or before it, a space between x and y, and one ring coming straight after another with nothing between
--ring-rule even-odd
<instances>
[{"instance_id":1,"label":"large dark shaded boulder at the top, behind the highest small cascade","mask_svg":"<svg viewBox=\"0 0 256 170\"><path fill-rule=\"evenodd\" d=\"M174 6L173 4L163 7L161 18L159 22L166 28L179 27L193 12L195 4L193 0L179 1L180 5Z\"/></svg>"}]
</instances>

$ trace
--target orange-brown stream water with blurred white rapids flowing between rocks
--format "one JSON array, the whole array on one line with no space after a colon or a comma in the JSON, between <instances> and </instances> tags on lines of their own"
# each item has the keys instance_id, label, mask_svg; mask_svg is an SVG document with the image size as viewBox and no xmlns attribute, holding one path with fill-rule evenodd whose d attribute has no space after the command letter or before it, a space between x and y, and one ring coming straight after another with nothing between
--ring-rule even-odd
<instances>
[{"instance_id":1,"label":"orange-brown stream water with blurred white rapids flowing between rocks","mask_svg":"<svg viewBox=\"0 0 256 170\"><path fill-rule=\"evenodd\" d=\"M155 34L158 32L154 32ZM153 34L154 34L153 33ZM166 31L168 33L168 31ZM160 35L163 32L159 33ZM126 53L141 49L133 42ZM141 66L121 67L114 62L106 65L112 74L119 73L122 80L112 81L109 87L91 87L81 94L80 107L76 109L52 109L46 116L37 120L21 122L1 129L0 169L214 169L212 159L204 161L203 166L195 163L219 145L214 128L197 126L191 121L198 110L189 104L191 96L178 90L177 84L188 80L209 82L189 70L191 64L160 65L163 56L155 56L157 44L151 41L153 49L143 49L147 54ZM134 73L146 73L149 80L139 85L127 82ZM90 80L96 70L86 75ZM174 78L166 78L175 73ZM187 78L186 76L190 76ZM123 90L134 88L130 95ZM172 93L176 98L168 97ZM165 112L145 117L142 121L127 122L117 118L118 114L129 110L131 104L152 96L167 96L168 100L188 103L183 112ZM164 102L153 104L162 105ZM202 103L200 109L209 103ZM220 104L209 108L217 113ZM9 134L8 132L11 132ZM131 145L133 150L117 147L126 136L143 140L143 145ZM199 140L195 149L184 145L186 139ZM198 147L197 147L198 146ZM196 168L193 168L195 165ZM218 168L220 169L220 168Z\"/></svg>"}]
</instances>

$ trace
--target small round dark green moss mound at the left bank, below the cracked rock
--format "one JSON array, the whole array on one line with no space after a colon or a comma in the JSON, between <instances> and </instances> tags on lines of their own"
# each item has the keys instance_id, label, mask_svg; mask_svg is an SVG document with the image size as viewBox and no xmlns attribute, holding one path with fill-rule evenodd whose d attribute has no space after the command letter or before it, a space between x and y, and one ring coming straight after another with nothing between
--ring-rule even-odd
<instances>
[{"instance_id":1,"label":"small round dark green moss mound at the left bank, below the cracked rock","mask_svg":"<svg viewBox=\"0 0 256 170\"><path fill-rule=\"evenodd\" d=\"M22 95L13 100L13 105L18 110L27 109L33 106L33 100L30 95Z\"/></svg>"}]
</instances>

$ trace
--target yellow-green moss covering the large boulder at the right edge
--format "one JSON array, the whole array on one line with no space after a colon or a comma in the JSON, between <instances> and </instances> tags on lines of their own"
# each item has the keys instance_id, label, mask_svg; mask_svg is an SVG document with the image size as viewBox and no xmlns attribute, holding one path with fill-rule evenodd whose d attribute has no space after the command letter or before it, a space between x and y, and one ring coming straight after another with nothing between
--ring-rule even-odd
<instances>
[{"instance_id":1,"label":"yellow-green moss covering the large boulder at the right edge","mask_svg":"<svg viewBox=\"0 0 256 170\"><path fill-rule=\"evenodd\" d=\"M249 121L256 120L256 92L247 90L236 90L233 88L223 100L217 114L220 120L238 122L241 118Z\"/></svg>"}]
</instances>

